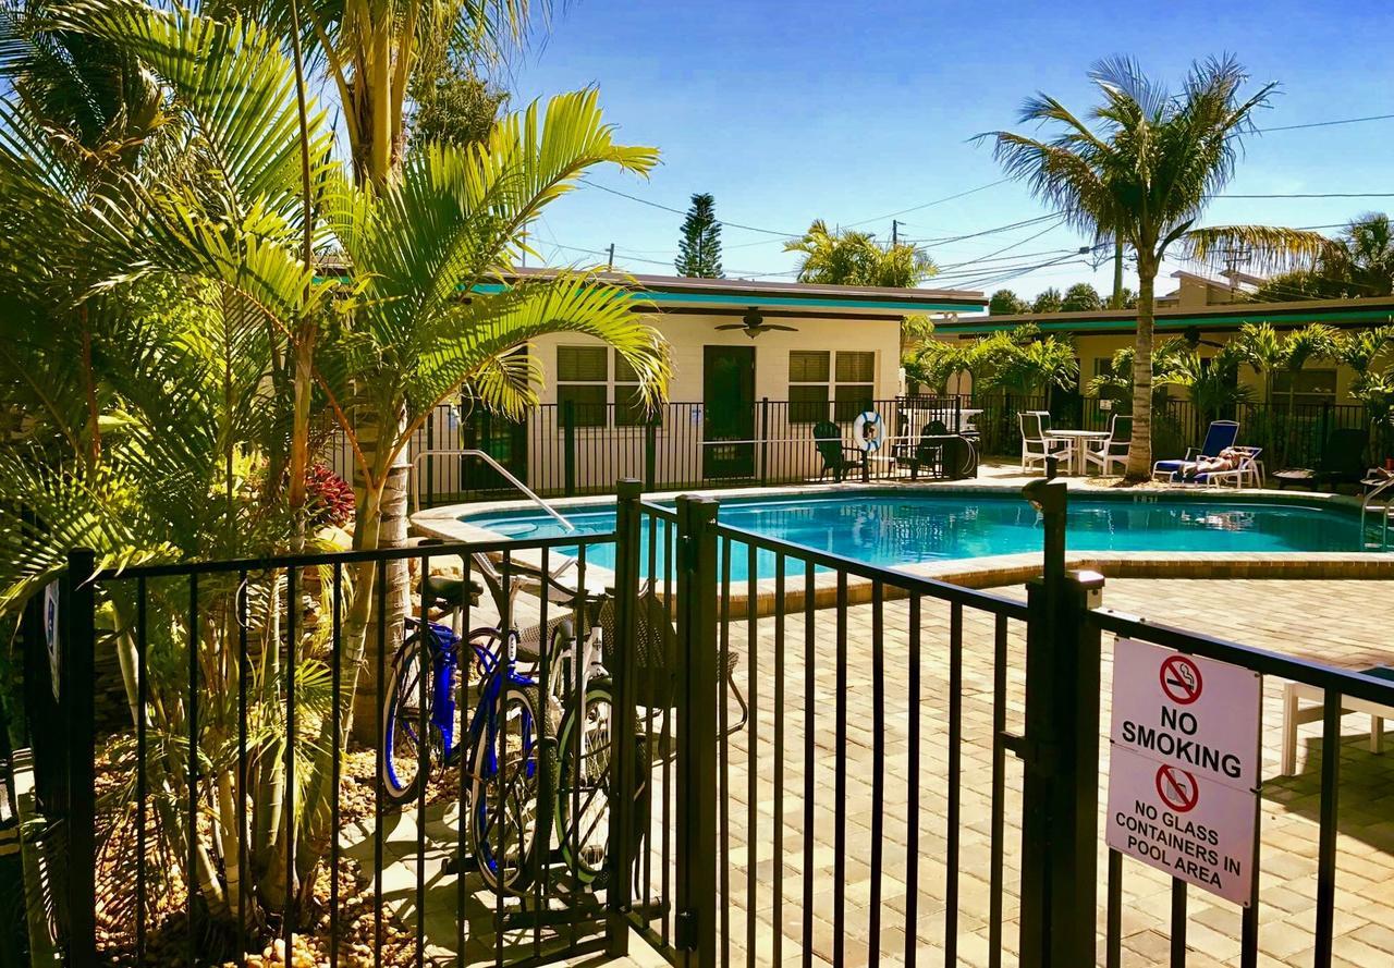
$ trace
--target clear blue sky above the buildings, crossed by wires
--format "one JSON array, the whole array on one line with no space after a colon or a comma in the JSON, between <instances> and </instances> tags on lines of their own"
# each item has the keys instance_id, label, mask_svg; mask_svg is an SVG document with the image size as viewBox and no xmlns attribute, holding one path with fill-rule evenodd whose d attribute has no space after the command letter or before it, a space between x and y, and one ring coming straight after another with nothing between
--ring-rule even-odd
<instances>
[{"instance_id":1,"label":"clear blue sky above the buildings, crossed by wires","mask_svg":"<svg viewBox=\"0 0 1394 968\"><path fill-rule=\"evenodd\" d=\"M1256 84L1282 85L1260 123L1305 124L1394 113L1391 28L1386 4L1310 0L576 0L545 45L513 64L509 86L517 104L598 85L620 138L662 150L647 181L604 173L594 178L601 185L679 209L691 192L711 192L721 219L778 233L822 217L885 238L889 213L1002 177L991 149L969 139L1016 127L1027 95L1040 89L1087 109L1086 72L1100 57L1129 54L1151 75L1179 82L1193 58L1234 53ZM1255 136L1230 192L1394 192L1391 141L1394 120ZM1379 208L1394 209L1394 198L1217 199L1206 221L1324 226ZM1006 184L909 212L901 231L945 238L1043 214L1023 187ZM584 188L549 210L535 242L553 265L592 263L597 256L577 249L613 242L618 266L665 273L680 221ZM940 284L1032 295L1082 279L1105 290L1111 263L1096 272L1065 262L1001 283L980 276L1078 258L1069 251L1089 241L1039 223L927 248L947 266ZM732 277L796 265L775 235L728 227L723 244ZM1015 248L999 262L962 265L1004 247Z\"/></svg>"}]
</instances>

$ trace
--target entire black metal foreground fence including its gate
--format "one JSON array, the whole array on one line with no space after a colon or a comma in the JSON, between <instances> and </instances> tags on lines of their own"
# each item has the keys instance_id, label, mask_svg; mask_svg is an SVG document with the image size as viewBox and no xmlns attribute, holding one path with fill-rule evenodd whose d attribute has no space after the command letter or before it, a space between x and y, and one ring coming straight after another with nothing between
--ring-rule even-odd
<instances>
[{"instance_id":1,"label":"entire black metal foreground fence including its gate","mask_svg":"<svg viewBox=\"0 0 1394 968\"><path fill-rule=\"evenodd\" d=\"M298 770L311 766L294 755L302 747L308 758L307 731L325 727L337 734L350 692L340 652L347 570L375 575L375 595L382 596L393 560L413 559L421 574L429 574L432 559L456 559L468 584L478 567L474 556L489 554L505 584L519 574L513 563L520 568L526 557L535 557L533 567L546 574L566 556L576 560L577 589L599 584L613 591L605 659L613 676L611 766L594 776L587 767L583 781L583 756L567 760L565 740L581 731L567 734L565 721L555 724L559 733L549 733L553 724L542 717L537 747L553 744L570 763L555 774L538 774L539 802L552 804L553 793L572 797L567 816L577 819L576 830L581 818L604 822L604 869L572 876L570 883L542 876L481 907L466 877L450 877L460 866L441 869L439 877L436 868L427 869L435 855L459 852L464 862L480 861L467 850L464 816L471 802L488 801L467 798L475 779L467 760L447 760L441 770L459 783L453 794L421 787L410 802L389 809L379 783L379 747L367 780L376 802L368 816L360 811L362 838L355 848L369 882L355 889L361 908L340 896L342 883L353 889L348 880L330 882L321 925L328 926L330 965L339 964L343 933L364 918L375 957L393 943L417 964L534 961L597 947L618 955L627 951L634 932L682 965L1156 964L1157 958L1131 954L1121 943L1125 883L1136 883L1143 872L1136 862L1100 850L1100 695L1105 639L1115 635L1322 691L1310 943L1312 964L1330 965L1341 783L1341 758L1333 752L1341 748L1344 699L1394 706L1394 684L1098 607L1101 579L1065 568L1064 485L1034 483L1026 499L1040 514L1044 560L1025 602L723 525L718 501L710 497L683 497L673 507L647 504L633 481L619 487L613 535L123 572L98 571L91 553L77 553L59 596L63 728L49 804L66 833L68 876L59 908L68 964L95 964L99 935L110 944L112 904L103 891L112 883L112 859L121 859L121 851L134 889L127 912L134 930L127 950L105 954L125 962L145 957L153 940L146 926L156 928L156 914L167 926L171 908L187 904L191 925L208 921L208 908L185 896L181 877L195 883L209 872L226 876L229 857L237 858L234 869L250 864L241 848L231 851L263 826L256 802L237 798L245 806L231 812L224 802L223 827L209 827L201 818L212 809L216 784L245 786L254 765L265 776L283 774L283 788L294 797L301 788L297 776L304 779ZM860 531L864 545L880 546L889 557L898 547L933 540L941 526L933 520L892 524L856 501L839 514L841 528ZM602 565L611 549L613 561L604 565L612 568ZM314 596L305 598L311 584ZM283 609L280 621L289 628L266 639L279 649L279 660L301 671L262 678L250 692L241 687L256 685L250 671L269 653L248 649L244 632L261 628L248 623L248 609L261 599L240 589L258 586L279 588L283 602L319 604L314 611ZM99 735L93 719L99 591L112 616L130 618L130 625L117 623L114 635L128 635L130 659L139 670L135 703L145 708L159 689L166 710L184 705L177 716L166 712L170 724L160 731L142 717L134 742L120 747ZM551 616L548 600L541 600L539 628L566 614L584 631L594 614L583 592L574 602L555 603ZM424 616L429 604L418 599L413 609ZM215 617L222 624L209 624ZM512 620L503 614L500 625L512 627ZM297 634L311 621L322 639ZM609 620L598 621L605 627ZM464 627L471 627L468 607ZM100 635L110 642L113 632ZM542 667L548 667L546 641L539 646ZM42 637L31 637L29 648L42 649ZM29 659L28 670L47 666L42 652ZM159 676L148 678L155 663ZM374 710L385 709L393 671L392 655L379 653L372 663L369 721ZM210 691L215 676L233 691ZM463 678L454 682L463 689ZM33 698L43 698L33 685ZM546 695L545 678L539 687ZM316 691L323 694L318 706ZM46 702L52 698L47 694ZM251 719L248 709L256 713ZM417 715L424 710L425 703ZM31 726L42 728L43 721L52 716ZM252 734L248 723L258 726ZM376 726L381 733L382 721ZM507 752L505 740L503 759ZM421 745L420 766L431 770L435 754L431 744ZM132 784L124 813L107 806L112 787L103 788L100 805L96 797L99 772L105 783L120 777L113 765L127 769ZM332 766L328 809L332 829L339 830L339 791L348 766L337 755ZM164 786L155 786L155 777ZM555 791L548 777L559 784ZM590 811L594 797L608 799L604 811ZM503 799L500 793L500 805ZM294 815L294 802L286 809ZM156 866L170 862L153 852L156 811L164 812L164 823L188 818L187 829L199 834L188 838L187 857L173 858L173 869ZM121 823L128 837L113 840ZM442 829L447 840L435 843ZM493 850L507 858L507 827L498 830ZM570 841L572 857L590 833ZM556 844L560 854L548 851L535 865L574 873L574 864L567 868L562 857L566 845L563 836ZM323 857L329 871L346 872L347 850L337 837L330 841ZM411 858L414 865L407 864ZM1100 858L1107 865L1103 879ZM294 854L277 862L287 865L287 877L294 876ZM404 869L393 869L403 864ZM229 898L238 910L248 903L247 882L241 883ZM1165 894L1167 958L1185 965L1188 929L1196 923L1192 893L1175 880ZM273 922L287 947L305 925L294 916L293 903L287 900L286 916ZM1241 965L1259 962L1264 903L1260 894L1242 914L1231 912ZM443 918L429 916L432 904ZM427 916L413 919L413 910ZM265 908L269 918L279 914ZM383 923L392 918L406 930L386 935ZM1217 930L1213 921L1206 923L1209 932ZM198 964L205 936L176 937L187 944L188 962Z\"/></svg>"}]
</instances>

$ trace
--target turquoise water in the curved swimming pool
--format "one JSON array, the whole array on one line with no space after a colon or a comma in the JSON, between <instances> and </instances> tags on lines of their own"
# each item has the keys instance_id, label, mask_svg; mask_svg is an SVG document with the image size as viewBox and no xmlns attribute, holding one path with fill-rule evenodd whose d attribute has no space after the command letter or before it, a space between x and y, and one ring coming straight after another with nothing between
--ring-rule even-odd
<instances>
[{"instance_id":1,"label":"turquoise water in the curved swimming pool","mask_svg":"<svg viewBox=\"0 0 1394 968\"><path fill-rule=\"evenodd\" d=\"M613 506L562 513L585 533L615 526ZM460 520L523 540L565 533L541 511L467 514ZM1039 515L1015 494L732 497L721 501L719 520L882 567L1041 550ZM1066 540L1075 552L1358 552L1361 522L1345 508L1301 503L1071 494ZM647 556L647 532L644 549ZM609 568L615 549L591 547L587 560ZM761 578L774 577L774 556L761 554L757 570ZM746 572L747 554L737 547L732 578L742 579Z\"/></svg>"}]
</instances>

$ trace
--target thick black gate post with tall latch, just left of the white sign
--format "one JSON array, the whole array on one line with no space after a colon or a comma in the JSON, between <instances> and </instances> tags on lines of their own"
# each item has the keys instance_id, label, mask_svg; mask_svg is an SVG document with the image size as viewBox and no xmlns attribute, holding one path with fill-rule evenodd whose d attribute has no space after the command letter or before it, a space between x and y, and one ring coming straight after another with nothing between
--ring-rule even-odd
<instances>
[{"instance_id":1,"label":"thick black gate post with tall latch, just left of the white sign","mask_svg":"<svg viewBox=\"0 0 1394 968\"><path fill-rule=\"evenodd\" d=\"M1086 613L1103 578L1065 570L1065 483L1023 493L1046 538L1044 574L1027 584L1020 960L1072 968L1094 964L1100 632Z\"/></svg>"}]
</instances>

